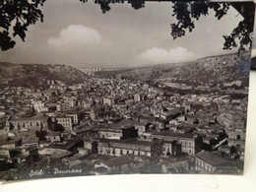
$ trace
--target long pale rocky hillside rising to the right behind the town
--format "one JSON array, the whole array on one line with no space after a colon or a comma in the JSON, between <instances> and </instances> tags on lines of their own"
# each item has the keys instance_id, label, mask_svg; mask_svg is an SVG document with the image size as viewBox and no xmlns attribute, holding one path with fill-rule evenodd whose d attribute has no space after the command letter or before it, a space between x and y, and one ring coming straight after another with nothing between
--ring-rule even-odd
<instances>
[{"instance_id":1,"label":"long pale rocky hillside rising to the right behind the town","mask_svg":"<svg viewBox=\"0 0 256 192\"><path fill-rule=\"evenodd\" d=\"M186 63L162 64L120 73L120 78L148 81L175 79L189 84L224 83L241 80L248 83L250 55L226 54L205 57Z\"/></svg>"}]
</instances>

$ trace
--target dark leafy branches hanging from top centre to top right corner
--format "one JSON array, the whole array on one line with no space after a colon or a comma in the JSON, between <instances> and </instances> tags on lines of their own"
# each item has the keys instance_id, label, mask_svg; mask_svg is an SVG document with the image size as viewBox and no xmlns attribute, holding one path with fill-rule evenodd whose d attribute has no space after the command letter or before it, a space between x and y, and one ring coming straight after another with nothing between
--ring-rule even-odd
<instances>
[{"instance_id":1,"label":"dark leafy branches hanging from top centre to top right corner","mask_svg":"<svg viewBox=\"0 0 256 192\"><path fill-rule=\"evenodd\" d=\"M85 3L87 0L80 0ZM154 0L148 0L154 1ZM168 0L161 0L168 1ZM100 5L102 13L110 10L110 3L123 3L124 0L95 0L96 4ZM145 7L144 0L128 0L128 3L134 9ZM229 35L224 35L224 49L232 49L237 47L239 42L238 52L245 51L251 48L253 19L254 19L254 3L243 4L241 2L207 2L207 1L175 1L173 2L172 16L177 19L177 23L170 24L171 36L173 39L184 36L186 32L192 32L195 29L195 21L199 20L201 16L209 15L209 11L215 12L215 17L221 20L227 14L230 6L232 6L239 14L243 16L238 26L233 29Z\"/></svg>"}]
</instances>

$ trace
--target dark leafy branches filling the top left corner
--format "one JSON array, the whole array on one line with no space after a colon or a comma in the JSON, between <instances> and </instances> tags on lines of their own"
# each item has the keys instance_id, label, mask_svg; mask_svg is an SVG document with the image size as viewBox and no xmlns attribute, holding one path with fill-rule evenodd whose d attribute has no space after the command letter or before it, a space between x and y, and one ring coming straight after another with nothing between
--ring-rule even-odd
<instances>
[{"instance_id":1,"label":"dark leafy branches filling the top left corner","mask_svg":"<svg viewBox=\"0 0 256 192\"><path fill-rule=\"evenodd\" d=\"M19 35L25 41L28 27L38 20L43 22L39 6L46 0L0 0L0 48L2 51L13 48L13 39ZM11 32L13 33L11 34Z\"/></svg>"}]
</instances>

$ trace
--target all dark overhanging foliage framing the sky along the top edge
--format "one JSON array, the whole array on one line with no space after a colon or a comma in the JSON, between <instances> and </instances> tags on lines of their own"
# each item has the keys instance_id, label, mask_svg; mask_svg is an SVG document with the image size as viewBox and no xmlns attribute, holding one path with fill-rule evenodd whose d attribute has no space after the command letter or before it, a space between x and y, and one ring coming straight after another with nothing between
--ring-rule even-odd
<instances>
[{"instance_id":1,"label":"all dark overhanging foliage framing the sky along the top edge","mask_svg":"<svg viewBox=\"0 0 256 192\"><path fill-rule=\"evenodd\" d=\"M46 0L0 0L0 48L2 51L13 48L16 44L14 37L20 36L25 41L28 27L37 21L43 22L40 7ZM79 0L86 3L88 0ZM110 11L110 4L127 1L134 9L145 7L146 1L155 0L95 0L103 14ZM169 0L160 0L169 1ZM174 1L173 14L176 23L170 24L170 35L173 39L193 32L195 22L202 16L209 15L210 10L221 20L227 14L230 6L243 16L243 20L230 34L224 34L224 49L238 47L238 52L248 50L252 44L254 3L242 2L207 2L207 1Z\"/></svg>"}]
</instances>

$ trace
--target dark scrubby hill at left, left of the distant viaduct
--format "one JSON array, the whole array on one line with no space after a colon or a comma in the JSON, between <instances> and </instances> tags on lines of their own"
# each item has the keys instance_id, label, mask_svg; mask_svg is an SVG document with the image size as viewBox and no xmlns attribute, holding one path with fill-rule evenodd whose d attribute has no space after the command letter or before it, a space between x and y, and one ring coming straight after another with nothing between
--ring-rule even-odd
<instances>
[{"instance_id":1,"label":"dark scrubby hill at left, left of the distant viaduct","mask_svg":"<svg viewBox=\"0 0 256 192\"><path fill-rule=\"evenodd\" d=\"M65 65L12 64L0 62L0 82L10 86L37 87L48 80L59 80L68 85L84 82L88 76L80 70Z\"/></svg>"}]
</instances>

